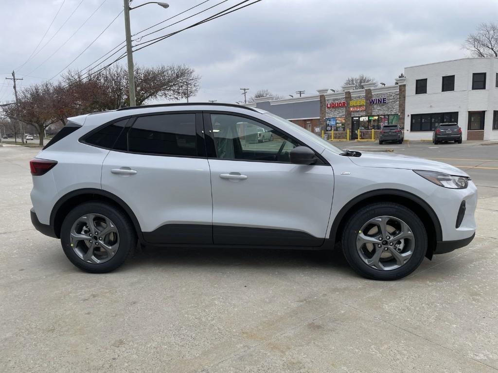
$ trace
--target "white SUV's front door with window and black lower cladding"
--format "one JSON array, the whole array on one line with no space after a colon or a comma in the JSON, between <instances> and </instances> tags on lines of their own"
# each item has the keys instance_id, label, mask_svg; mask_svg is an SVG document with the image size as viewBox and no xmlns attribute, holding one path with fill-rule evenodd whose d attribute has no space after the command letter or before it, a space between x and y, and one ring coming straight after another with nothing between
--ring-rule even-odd
<instances>
[{"instance_id":1,"label":"white SUV's front door with window and black lower cladding","mask_svg":"<svg viewBox=\"0 0 498 373\"><path fill-rule=\"evenodd\" d=\"M330 218L330 165L295 165L301 144L268 123L244 115L204 114L213 196L215 244L320 246ZM273 141L252 140L262 127Z\"/></svg>"}]
</instances>

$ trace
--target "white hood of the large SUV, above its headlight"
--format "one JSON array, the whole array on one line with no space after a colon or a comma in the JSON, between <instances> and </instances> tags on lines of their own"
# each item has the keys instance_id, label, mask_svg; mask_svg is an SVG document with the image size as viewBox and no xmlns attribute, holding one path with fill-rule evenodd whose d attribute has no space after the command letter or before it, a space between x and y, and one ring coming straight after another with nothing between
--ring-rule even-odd
<instances>
[{"instance_id":1,"label":"white hood of the large SUV, above its headlight","mask_svg":"<svg viewBox=\"0 0 498 373\"><path fill-rule=\"evenodd\" d=\"M449 175L469 177L462 170L446 163L401 154L362 152L361 157L350 157L350 159L354 164L362 167L438 171Z\"/></svg>"}]
</instances>

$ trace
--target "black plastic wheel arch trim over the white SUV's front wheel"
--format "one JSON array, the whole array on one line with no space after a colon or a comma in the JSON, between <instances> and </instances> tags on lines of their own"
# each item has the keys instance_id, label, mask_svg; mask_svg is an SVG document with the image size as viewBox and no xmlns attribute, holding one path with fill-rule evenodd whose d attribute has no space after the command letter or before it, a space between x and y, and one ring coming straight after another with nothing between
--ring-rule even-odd
<instances>
[{"instance_id":1,"label":"black plastic wheel arch trim over the white SUV's front wheel","mask_svg":"<svg viewBox=\"0 0 498 373\"><path fill-rule=\"evenodd\" d=\"M427 254L431 259L436 248L436 242L442 241L443 233L441 223L432 207L417 195L399 189L378 189L368 191L353 198L346 203L336 215L330 230L329 238L332 242L338 242L342 239L344 226L346 222L360 207L370 202L396 202L410 208L422 221L427 231Z\"/></svg>"}]
</instances>

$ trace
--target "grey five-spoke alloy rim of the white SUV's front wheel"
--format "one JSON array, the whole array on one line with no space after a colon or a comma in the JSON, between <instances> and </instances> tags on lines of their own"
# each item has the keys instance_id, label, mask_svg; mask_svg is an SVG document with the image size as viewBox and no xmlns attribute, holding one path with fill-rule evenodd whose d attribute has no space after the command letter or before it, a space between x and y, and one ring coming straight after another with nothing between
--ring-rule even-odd
<instances>
[{"instance_id":1,"label":"grey five-spoke alloy rim of the white SUV's front wheel","mask_svg":"<svg viewBox=\"0 0 498 373\"><path fill-rule=\"evenodd\" d=\"M368 266L380 271L397 269L408 262L415 248L411 228L393 216L377 216L358 231L356 248Z\"/></svg>"}]
</instances>

